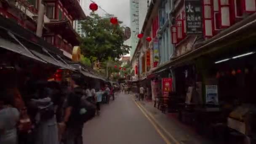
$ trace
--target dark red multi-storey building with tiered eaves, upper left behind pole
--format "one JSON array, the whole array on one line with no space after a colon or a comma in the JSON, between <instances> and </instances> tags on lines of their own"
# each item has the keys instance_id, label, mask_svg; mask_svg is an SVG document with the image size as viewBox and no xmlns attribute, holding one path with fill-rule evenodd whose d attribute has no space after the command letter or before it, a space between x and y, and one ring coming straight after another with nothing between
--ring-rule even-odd
<instances>
[{"instance_id":1,"label":"dark red multi-storey building with tiered eaves, upper left behind pole","mask_svg":"<svg viewBox=\"0 0 256 144\"><path fill-rule=\"evenodd\" d=\"M80 37L73 28L75 20L85 19L79 0L42 0L45 7L43 16L43 39L63 51L72 59L72 49L79 45ZM40 0L1 0L0 14L12 19L25 29L37 30Z\"/></svg>"}]
</instances>

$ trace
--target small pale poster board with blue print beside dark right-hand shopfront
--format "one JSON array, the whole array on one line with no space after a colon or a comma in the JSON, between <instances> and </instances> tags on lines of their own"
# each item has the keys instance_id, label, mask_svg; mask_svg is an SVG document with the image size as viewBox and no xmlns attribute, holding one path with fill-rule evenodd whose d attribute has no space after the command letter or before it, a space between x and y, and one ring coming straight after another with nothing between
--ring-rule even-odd
<instances>
[{"instance_id":1,"label":"small pale poster board with blue print beside dark right-hand shopfront","mask_svg":"<svg viewBox=\"0 0 256 144\"><path fill-rule=\"evenodd\" d=\"M218 85L205 85L206 104L218 104Z\"/></svg>"}]
</instances>

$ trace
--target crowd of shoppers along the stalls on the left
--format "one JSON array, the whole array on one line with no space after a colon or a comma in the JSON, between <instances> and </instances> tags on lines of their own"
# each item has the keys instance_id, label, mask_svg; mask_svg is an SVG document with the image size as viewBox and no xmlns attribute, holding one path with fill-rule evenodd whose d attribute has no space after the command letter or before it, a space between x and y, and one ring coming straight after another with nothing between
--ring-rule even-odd
<instances>
[{"instance_id":1,"label":"crowd of shoppers along the stalls on the left","mask_svg":"<svg viewBox=\"0 0 256 144\"><path fill-rule=\"evenodd\" d=\"M114 88L89 87L79 74L70 83L28 78L19 91L0 90L0 144L83 144L83 124L100 114L105 94L109 103Z\"/></svg>"}]
</instances>

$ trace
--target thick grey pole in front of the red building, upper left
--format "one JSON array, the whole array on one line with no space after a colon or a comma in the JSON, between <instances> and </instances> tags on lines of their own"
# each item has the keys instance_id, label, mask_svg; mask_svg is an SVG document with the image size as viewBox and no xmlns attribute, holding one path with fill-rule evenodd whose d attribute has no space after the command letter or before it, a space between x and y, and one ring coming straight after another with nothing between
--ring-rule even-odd
<instances>
[{"instance_id":1,"label":"thick grey pole in front of the red building, upper left","mask_svg":"<svg viewBox=\"0 0 256 144\"><path fill-rule=\"evenodd\" d=\"M38 37L42 37L43 34L43 20L44 20L44 11L45 6L42 3L42 0L39 0L38 16L37 16L37 32Z\"/></svg>"}]
</instances>

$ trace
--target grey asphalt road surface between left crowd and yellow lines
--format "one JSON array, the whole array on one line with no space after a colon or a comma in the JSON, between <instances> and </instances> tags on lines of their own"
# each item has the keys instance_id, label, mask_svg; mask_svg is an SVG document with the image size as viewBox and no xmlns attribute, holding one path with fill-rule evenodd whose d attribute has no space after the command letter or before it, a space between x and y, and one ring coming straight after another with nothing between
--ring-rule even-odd
<instances>
[{"instance_id":1,"label":"grey asphalt road surface between left crowd and yellow lines","mask_svg":"<svg viewBox=\"0 0 256 144\"><path fill-rule=\"evenodd\" d=\"M84 125L84 144L165 144L131 96L120 94L101 108L101 114Z\"/></svg>"}]
</instances>

